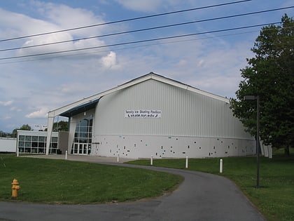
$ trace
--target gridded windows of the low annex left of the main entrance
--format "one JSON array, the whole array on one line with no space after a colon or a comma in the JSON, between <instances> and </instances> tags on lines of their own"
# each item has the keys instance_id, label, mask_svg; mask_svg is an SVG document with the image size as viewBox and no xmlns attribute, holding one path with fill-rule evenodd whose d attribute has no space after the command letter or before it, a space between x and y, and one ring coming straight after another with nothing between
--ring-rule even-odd
<instances>
[{"instance_id":1,"label":"gridded windows of the low annex left of the main entrance","mask_svg":"<svg viewBox=\"0 0 294 221\"><path fill-rule=\"evenodd\" d=\"M31 134L29 134L31 132ZM27 154L45 154L47 133L18 132L18 152ZM39 134L38 134L39 133ZM49 154L57 154L58 137L52 134Z\"/></svg>"}]
</instances>

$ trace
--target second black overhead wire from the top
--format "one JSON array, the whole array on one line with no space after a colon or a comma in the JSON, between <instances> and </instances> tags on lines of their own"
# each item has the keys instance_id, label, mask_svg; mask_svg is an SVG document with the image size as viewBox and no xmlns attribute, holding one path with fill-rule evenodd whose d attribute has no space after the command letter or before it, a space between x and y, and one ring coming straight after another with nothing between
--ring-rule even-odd
<instances>
[{"instance_id":1,"label":"second black overhead wire from the top","mask_svg":"<svg viewBox=\"0 0 294 221\"><path fill-rule=\"evenodd\" d=\"M58 43L67 43L67 42L80 41L80 40L86 40L86 39L97 39L97 38L101 38L101 37L105 37L105 36L115 36L115 35L119 35L119 34L130 34L130 33L134 33L134 32L150 31L153 29L162 29L162 28L166 28L166 27L176 27L176 26L180 26L180 25L190 25L193 23L208 22L208 21L212 21L212 20L236 18L236 17L245 16L245 15L254 15L254 14L258 14L258 13L268 13L268 12L272 12L272 11L280 11L280 10L288 9L288 8L294 8L294 6L288 6L288 7L283 7L283 8L274 8L274 9L269 9L269 10L265 10L265 11L255 11L255 12L251 12L251 13L243 13L243 14L237 14L237 15L228 15L228 16L223 16L223 17L218 17L218 18L209 18L209 19L204 19L204 20L195 20L195 21L191 21L191 22L182 22L182 23L176 23L176 24L172 24L172 25L148 27L148 28L144 28L144 29L136 29L136 30L126 31L126 32L116 32L116 33L112 33L112 34L103 34L103 35L99 35L99 36L90 36L90 37L85 37L85 38L80 38L80 39L56 41L56 42L52 42L52 43L41 43L41 44L37 44L37 45L33 45L33 46L23 46L23 47L18 47L18 48L5 48L5 49L1 49L0 52L1 51L13 51L13 50L24 49L24 48L34 48L34 47L39 47L39 46L49 46L49 45L58 44Z\"/></svg>"}]
</instances>

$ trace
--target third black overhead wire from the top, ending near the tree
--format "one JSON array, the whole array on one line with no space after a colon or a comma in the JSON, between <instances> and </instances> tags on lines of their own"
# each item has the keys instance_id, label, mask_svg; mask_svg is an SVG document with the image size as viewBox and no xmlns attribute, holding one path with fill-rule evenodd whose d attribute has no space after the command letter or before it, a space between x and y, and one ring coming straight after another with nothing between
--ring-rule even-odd
<instances>
[{"instance_id":1,"label":"third black overhead wire from the top, ending near the tree","mask_svg":"<svg viewBox=\"0 0 294 221\"><path fill-rule=\"evenodd\" d=\"M74 52L74 51L85 51L85 50L90 50L90 49L95 49L95 48L106 48L106 47L111 47L111 46L124 46L124 45L133 44L133 43L144 43L144 42L150 42L150 41L176 39L176 38L182 38L182 37L186 37L186 36L195 36L195 35L200 35L200 34L228 32L228 31L233 31L233 30L237 30L237 29L247 29L247 28L252 28L252 27L276 25L276 24L280 24L280 23L281 22L274 22L274 23L267 23L267 24L260 24L260 25L249 25L249 26L244 26L244 27L233 27L233 28L229 28L229 29L219 29L219 30L214 30L214 31L198 32L198 33L193 33L193 34L181 34L181 35L176 35L176 36L166 36L166 37L161 37L161 38L157 38L157 39L145 39L145 40L140 40L140 41L129 41L129 42L124 42L124 43L113 43L113 44L109 44L109 45L105 45L105 46L93 46L93 47L88 47L88 48L78 48L78 49L71 49L71 50L66 50L66 51L55 51L55 52L38 53L38 54L32 54L32 55L20 55L20 56L13 56L13 57L7 57L7 58L0 58L0 60L9 60L9 59L15 59L15 58L29 58L29 57L35 57L35 56L41 56L41 55L69 53L69 52Z\"/></svg>"}]
</instances>

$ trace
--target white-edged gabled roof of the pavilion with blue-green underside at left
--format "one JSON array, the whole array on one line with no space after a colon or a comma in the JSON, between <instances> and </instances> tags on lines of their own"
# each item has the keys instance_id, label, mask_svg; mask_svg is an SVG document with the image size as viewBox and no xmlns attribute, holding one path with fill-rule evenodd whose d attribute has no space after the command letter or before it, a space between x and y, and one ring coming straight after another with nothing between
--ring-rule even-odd
<instances>
[{"instance_id":1,"label":"white-edged gabled roof of the pavilion with blue-green underside at left","mask_svg":"<svg viewBox=\"0 0 294 221\"><path fill-rule=\"evenodd\" d=\"M179 81L174 81L174 80L169 79L165 76L161 76L159 74L154 74L153 72L151 72L151 73L146 74L144 76L140 76L136 79L133 79L132 81L127 81L126 83L123 83L120 86L117 86L116 88L111 88L111 89L104 91L102 93L92 95L88 98L84 98L83 100L78 100L78 101L73 102L73 103L66 105L64 107L59 107L58 109L52 110L52 111L48 112L48 117L59 116L59 115L70 116L71 115L70 113L73 114L73 112L76 112L76 113L83 112L84 111L83 108L90 108L90 107L93 108L94 106L92 106L92 105L96 105L97 102L99 101L99 98L102 98L104 95L108 95L110 93L120 91L123 88L128 88L130 86L134 86L137 83L141 83L141 82L147 81L149 79L154 79L156 81L160 81L162 83L167 83L169 85L176 86L178 88L183 88L188 91L193 91L198 94L206 95L210 98L214 98L216 100L221 100L223 102L227 102L227 103L230 102L230 100L228 98L223 98L219 95L214 95L213 93L201 91L200 89L194 88L193 86L189 86L188 84L181 83ZM96 102L96 103L94 103L94 102Z\"/></svg>"}]
</instances>

